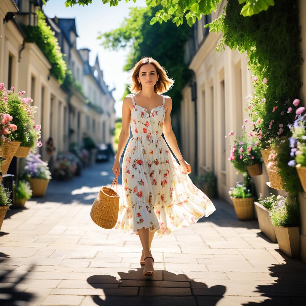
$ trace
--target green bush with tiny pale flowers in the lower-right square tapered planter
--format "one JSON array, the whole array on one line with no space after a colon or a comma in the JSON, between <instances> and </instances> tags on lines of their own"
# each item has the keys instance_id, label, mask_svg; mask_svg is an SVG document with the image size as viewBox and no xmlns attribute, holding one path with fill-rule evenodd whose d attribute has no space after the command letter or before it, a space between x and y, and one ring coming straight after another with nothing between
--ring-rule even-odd
<instances>
[{"instance_id":1,"label":"green bush with tiny pale flowers in the lower-right square tapered planter","mask_svg":"<svg viewBox=\"0 0 306 306\"><path fill-rule=\"evenodd\" d=\"M277 196L271 199L270 218L274 226L300 226L300 211L297 198Z\"/></svg>"}]
</instances>

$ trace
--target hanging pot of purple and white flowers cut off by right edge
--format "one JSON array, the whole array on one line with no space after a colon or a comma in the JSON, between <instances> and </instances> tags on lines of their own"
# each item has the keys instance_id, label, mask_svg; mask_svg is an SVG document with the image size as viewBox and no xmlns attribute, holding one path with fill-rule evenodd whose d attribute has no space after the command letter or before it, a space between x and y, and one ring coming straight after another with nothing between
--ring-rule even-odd
<instances>
[{"instance_id":1,"label":"hanging pot of purple and white flowers cut off by right edge","mask_svg":"<svg viewBox=\"0 0 306 306\"><path fill-rule=\"evenodd\" d=\"M306 113L302 114L304 110L304 107L299 107L296 110L296 120L293 124L289 125L292 132L292 136L289 138L290 155L294 159L290 160L288 165L296 167L301 185L304 192L306 192Z\"/></svg>"}]
</instances>

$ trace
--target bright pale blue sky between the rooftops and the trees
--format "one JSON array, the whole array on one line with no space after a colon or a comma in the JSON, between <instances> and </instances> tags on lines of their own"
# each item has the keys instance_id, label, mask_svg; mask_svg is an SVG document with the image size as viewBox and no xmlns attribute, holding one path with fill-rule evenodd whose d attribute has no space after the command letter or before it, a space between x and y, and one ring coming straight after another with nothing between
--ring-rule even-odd
<instances>
[{"instance_id":1,"label":"bright pale blue sky between the rooftops and the trees","mask_svg":"<svg viewBox=\"0 0 306 306\"><path fill-rule=\"evenodd\" d=\"M65 7L65 0L49 0L43 6L45 14L53 18L76 18L76 31L79 37L76 40L76 48L88 48L89 63L93 65L98 54L100 68L103 70L104 81L109 88L116 87L113 96L116 101L116 115L121 117L122 102L118 101L124 92L125 84L129 83L128 73L123 71L128 49L118 51L105 50L96 39L99 31L108 32L116 29L129 16L130 7L145 7L145 0L137 0L136 3L121 0L118 6L110 7L109 3L103 4L102 0L93 0L88 6Z\"/></svg>"}]
</instances>

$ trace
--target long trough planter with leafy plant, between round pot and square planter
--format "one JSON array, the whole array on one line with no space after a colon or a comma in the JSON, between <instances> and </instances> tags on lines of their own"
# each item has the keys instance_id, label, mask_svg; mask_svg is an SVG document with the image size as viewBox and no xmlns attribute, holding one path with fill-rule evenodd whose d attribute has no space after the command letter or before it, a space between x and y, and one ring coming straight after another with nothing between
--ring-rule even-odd
<instances>
[{"instance_id":1,"label":"long trough planter with leafy plant, between round pot and square planter","mask_svg":"<svg viewBox=\"0 0 306 306\"><path fill-rule=\"evenodd\" d=\"M275 231L270 218L270 208L272 203L277 201L277 197L270 193L270 196L262 200L262 194L259 193L259 202L255 202L255 209L258 218L259 229L264 235L266 235L271 241L277 243Z\"/></svg>"}]
</instances>

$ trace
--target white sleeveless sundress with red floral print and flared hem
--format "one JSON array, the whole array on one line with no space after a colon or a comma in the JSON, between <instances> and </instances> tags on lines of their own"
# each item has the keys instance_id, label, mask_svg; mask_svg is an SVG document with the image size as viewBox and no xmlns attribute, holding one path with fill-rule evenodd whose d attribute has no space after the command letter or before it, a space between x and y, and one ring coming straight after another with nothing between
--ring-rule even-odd
<instances>
[{"instance_id":1,"label":"white sleeveless sundress with red floral print and flared hem","mask_svg":"<svg viewBox=\"0 0 306 306\"><path fill-rule=\"evenodd\" d=\"M135 104L129 140L122 162L123 196L116 229L132 234L149 228L159 237L196 223L215 210L172 155L162 138L165 96L149 114Z\"/></svg>"}]
</instances>

